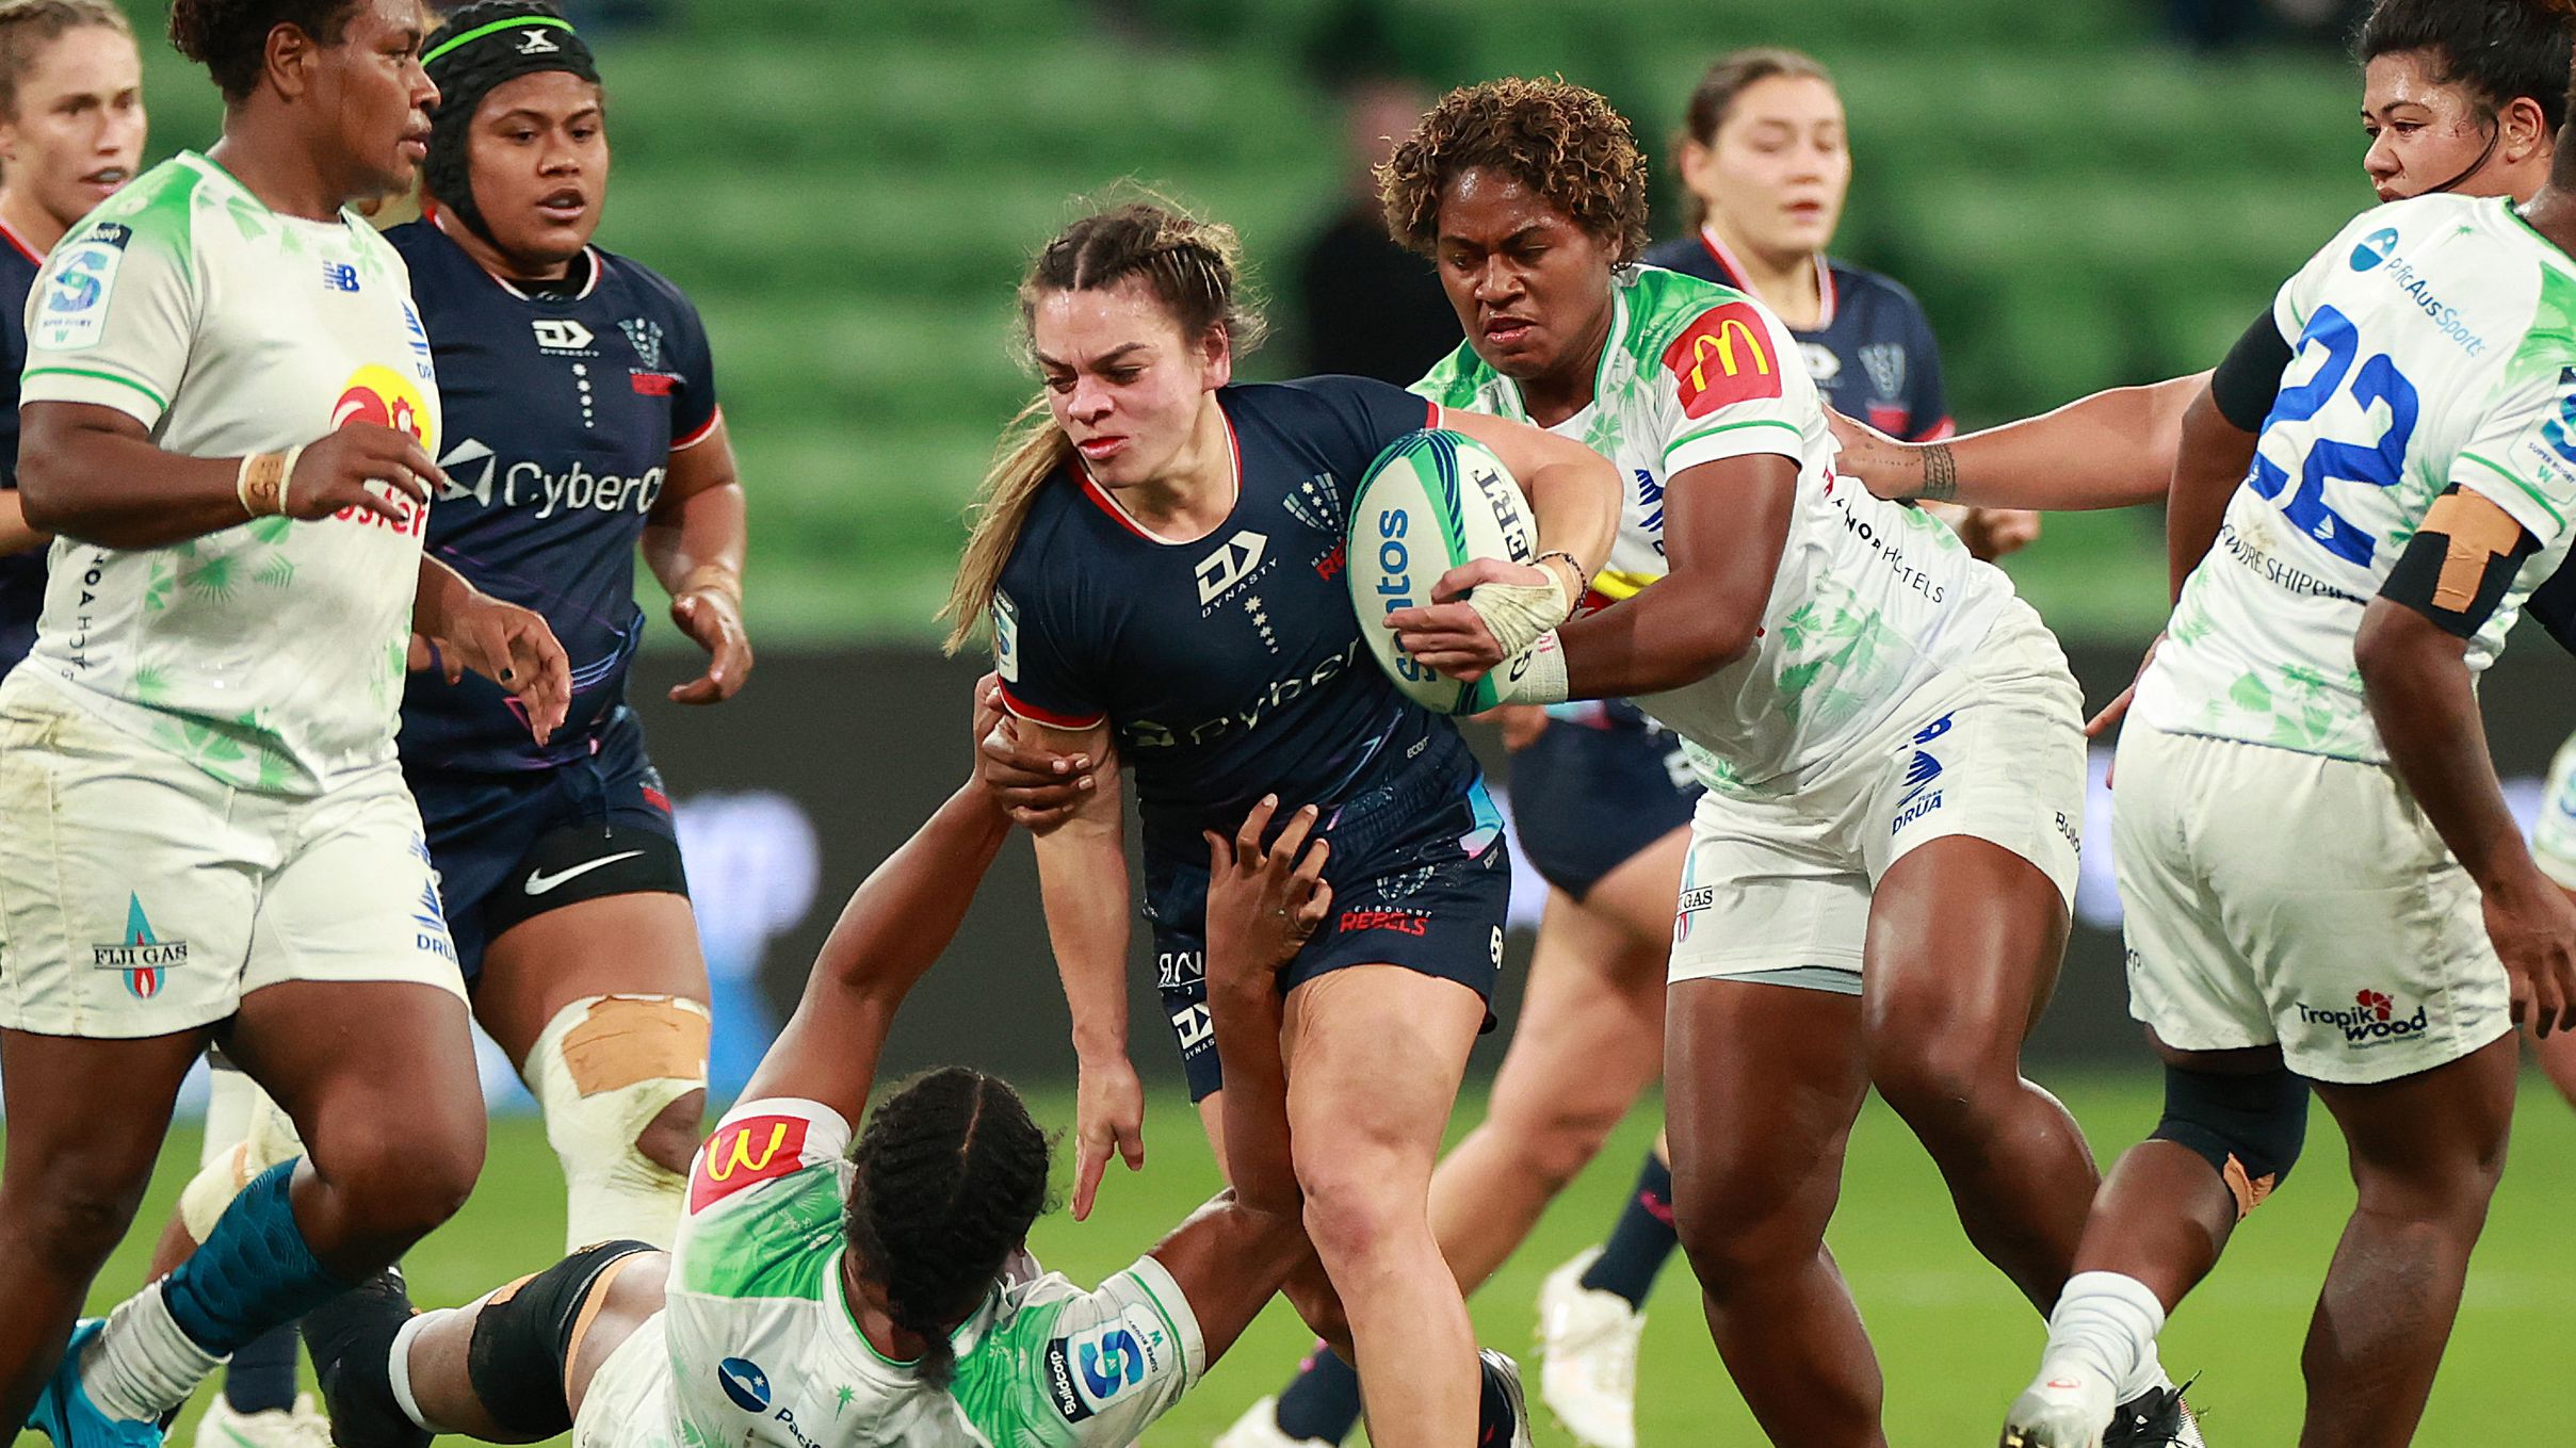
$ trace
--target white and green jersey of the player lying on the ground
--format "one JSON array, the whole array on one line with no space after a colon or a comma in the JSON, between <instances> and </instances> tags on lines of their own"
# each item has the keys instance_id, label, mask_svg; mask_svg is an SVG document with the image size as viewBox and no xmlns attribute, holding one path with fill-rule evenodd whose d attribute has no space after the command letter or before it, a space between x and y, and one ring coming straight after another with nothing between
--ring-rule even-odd
<instances>
[{"instance_id":1,"label":"white and green jersey of the player lying on the ground","mask_svg":"<svg viewBox=\"0 0 2576 1448\"><path fill-rule=\"evenodd\" d=\"M850 1126L750 1100L698 1149L667 1306L590 1386L580 1445L1090 1448L1133 1443L1198 1381L1198 1319L1151 1257L1082 1291L1025 1257L922 1386L860 1337L845 1296Z\"/></svg>"}]
</instances>

